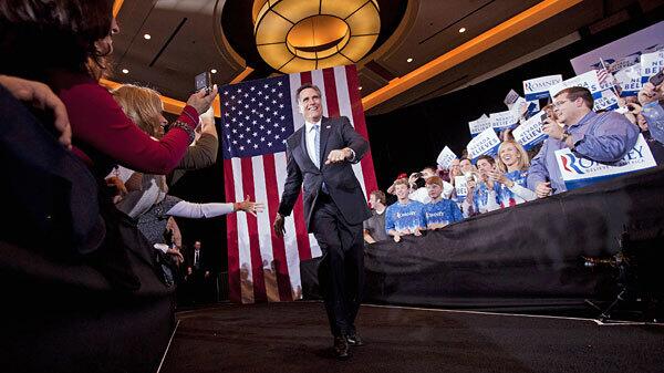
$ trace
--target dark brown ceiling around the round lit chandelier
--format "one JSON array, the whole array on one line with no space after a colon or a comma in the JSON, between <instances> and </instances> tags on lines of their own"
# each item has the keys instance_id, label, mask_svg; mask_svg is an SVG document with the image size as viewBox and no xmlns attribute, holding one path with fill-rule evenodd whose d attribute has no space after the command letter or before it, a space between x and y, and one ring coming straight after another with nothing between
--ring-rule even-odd
<instances>
[{"instance_id":1,"label":"dark brown ceiling around the round lit chandelier","mask_svg":"<svg viewBox=\"0 0 664 373\"><path fill-rule=\"evenodd\" d=\"M483 32L531 8L536 0L382 0L382 30L374 50L359 63L362 95L386 85ZM443 95L550 53L593 32L647 12L661 0L584 0L470 60L371 108L393 111ZM249 0L125 0L115 37L112 80L139 82L165 96L186 101L194 76L216 69L227 84L248 65L248 79L276 73L252 40ZM618 14L618 15L616 15ZM621 15L622 14L622 15ZM615 20L615 21L612 21ZM465 28L466 32L459 33ZM589 31L590 30L590 31ZM601 31L601 30L599 30ZM152 38L144 39L148 33ZM413 59L407 62L407 59ZM127 69L128 73L122 73Z\"/></svg>"}]
</instances>

